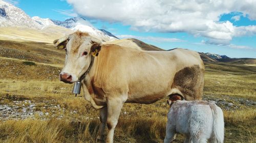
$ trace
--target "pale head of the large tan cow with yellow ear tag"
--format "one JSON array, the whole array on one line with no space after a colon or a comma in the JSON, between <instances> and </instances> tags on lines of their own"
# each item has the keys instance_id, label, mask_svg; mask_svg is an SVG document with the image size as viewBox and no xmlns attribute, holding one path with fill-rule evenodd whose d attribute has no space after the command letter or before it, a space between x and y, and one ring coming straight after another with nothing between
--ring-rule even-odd
<instances>
[{"instance_id":1,"label":"pale head of the large tan cow with yellow ear tag","mask_svg":"<svg viewBox=\"0 0 256 143\"><path fill-rule=\"evenodd\" d=\"M73 83L87 71L92 55L97 56L101 41L88 33L75 32L69 36L53 41L54 46L66 50L65 66L59 74L61 81Z\"/></svg>"}]
</instances>

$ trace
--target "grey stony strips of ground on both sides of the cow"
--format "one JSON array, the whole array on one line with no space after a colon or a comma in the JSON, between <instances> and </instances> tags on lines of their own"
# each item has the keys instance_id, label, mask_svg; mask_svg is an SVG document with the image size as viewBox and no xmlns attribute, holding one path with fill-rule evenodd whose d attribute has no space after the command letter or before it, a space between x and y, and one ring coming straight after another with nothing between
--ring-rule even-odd
<instances>
[{"instance_id":1,"label":"grey stony strips of ground on both sides of the cow","mask_svg":"<svg viewBox=\"0 0 256 143\"><path fill-rule=\"evenodd\" d=\"M223 95L222 98L205 95L203 100L215 101L223 110L254 108L256 105L256 101L228 95ZM72 118L77 114L79 113L76 110L68 110L65 107L61 107L56 99L34 102L26 98L13 97L6 94L0 100L0 120L4 121L10 119L24 120L27 118L40 120ZM86 119L90 118L86 117Z\"/></svg>"}]
</instances>

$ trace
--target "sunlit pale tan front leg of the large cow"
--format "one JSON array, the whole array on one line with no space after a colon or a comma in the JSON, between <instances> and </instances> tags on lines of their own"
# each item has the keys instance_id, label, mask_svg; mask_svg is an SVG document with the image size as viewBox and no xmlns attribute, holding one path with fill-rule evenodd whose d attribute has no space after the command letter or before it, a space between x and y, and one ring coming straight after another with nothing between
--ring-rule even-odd
<instances>
[{"instance_id":1,"label":"sunlit pale tan front leg of the large cow","mask_svg":"<svg viewBox=\"0 0 256 143\"><path fill-rule=\"evenodd\" d=\"M108 119L106 120L106 125L109 129L108 135L106 136L107 143L113 143L114 130L117 125L123 103L122 99L118 97L107 98Z\"/></svg>"}]
</instances>

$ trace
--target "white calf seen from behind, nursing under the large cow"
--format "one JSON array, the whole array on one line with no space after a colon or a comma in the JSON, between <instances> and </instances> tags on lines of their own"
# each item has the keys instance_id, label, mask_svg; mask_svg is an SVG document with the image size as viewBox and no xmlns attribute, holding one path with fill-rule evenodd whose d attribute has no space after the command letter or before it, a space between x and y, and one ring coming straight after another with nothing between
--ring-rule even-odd
<instances>
[{"instance_id":1,"label":"white calf seen from behind, nursing under the large cow","mask_svg":"<svg viewBox=\"0 0 256 143\"><path fill-rule=\"evenodd\" d=\"M172 142L176 133L185 135L185 143L224 141L223 112L214 101L176 100L168 100L171 107L167 114L164 143Z\"/></svg>"}]
</instances>

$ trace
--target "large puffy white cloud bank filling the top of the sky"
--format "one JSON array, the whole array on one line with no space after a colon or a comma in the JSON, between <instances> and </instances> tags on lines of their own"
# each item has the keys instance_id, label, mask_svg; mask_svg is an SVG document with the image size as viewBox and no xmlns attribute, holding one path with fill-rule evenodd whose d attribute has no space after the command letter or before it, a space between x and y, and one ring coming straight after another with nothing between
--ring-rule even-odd
<instances>
[{"instance_id":1,"label":"large puffy white cloud bank filling the top of the sky","mask_svg":"<svg viewBox=\"0 0 256 143\"><path fill-rule=\"evenodd\" d=\"M218 22L222 14L238 12L256 20L256 0L67 0L82 16L131 25L144 32L186 32L194 36L230 41L240 27L231 22ZM234 17L238 20L238 17ZM250 26L248 33L253 34Z\"/></svg>"}]
</instances>

